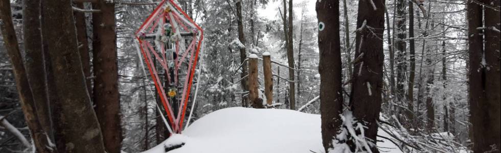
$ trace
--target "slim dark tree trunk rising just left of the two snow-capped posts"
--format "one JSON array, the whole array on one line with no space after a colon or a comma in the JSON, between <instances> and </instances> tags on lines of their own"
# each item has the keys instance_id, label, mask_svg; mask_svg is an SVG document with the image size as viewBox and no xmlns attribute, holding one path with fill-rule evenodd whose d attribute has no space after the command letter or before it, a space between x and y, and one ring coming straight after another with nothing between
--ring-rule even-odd
<instances>
[{"instance_id":1,"label":"slim dark tree trunk rising just left of the two snow-capped posts","mask_svg":"<svg viewBox=\"0 0 501 153\"><path fill-rule=\"evenodd\" d=\"M236 1L237 1L236 7L237 7L238 40L240 41L240 43L245 44L245 35L243 33L243 23L242 23L242 1L239 0ZM247 53L245 51L245 47L240 47L240 64L242 64L242 74L240 74L241 78L244 78L248 74L246 71L247 63L244 63L245 59L247 59ZM242 79L240 84L244 92L249 91L248 78ZM244 102L243 106L247 107L247 105L249 104L249 98L244 97L243 102Z\"/></svg>"}]
</instances>

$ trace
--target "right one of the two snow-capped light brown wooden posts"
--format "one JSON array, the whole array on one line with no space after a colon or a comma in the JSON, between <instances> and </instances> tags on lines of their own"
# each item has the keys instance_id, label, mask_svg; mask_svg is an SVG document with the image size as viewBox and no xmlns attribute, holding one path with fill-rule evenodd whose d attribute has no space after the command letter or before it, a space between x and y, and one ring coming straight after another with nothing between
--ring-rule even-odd
<instances>
[{"instance_id":1,"label":"right one of the two snow-capped light brown wooden posts","mask_svg":"<svg viewBox=\"0 0 501 153\"><path fill-rule=\"evenodd\" d=\"M271 58L268 52L263 53L263 71L266 106L271 107L271 102L273 101L273 80L271 79Z\"/></svg>"}]
</instances>

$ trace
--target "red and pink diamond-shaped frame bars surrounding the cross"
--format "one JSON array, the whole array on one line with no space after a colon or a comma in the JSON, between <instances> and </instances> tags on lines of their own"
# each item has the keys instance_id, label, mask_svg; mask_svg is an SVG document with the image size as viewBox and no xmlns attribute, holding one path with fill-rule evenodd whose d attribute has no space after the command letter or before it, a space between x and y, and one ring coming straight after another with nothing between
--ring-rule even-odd
<instances>
[{"instance_id":1,"label":"red and pink diamond-shaped frame bars surrounding the cross","mask_svg":"<svg viewBox=\"0 0 501 153\"><path fill-rule=\"evenodd\" d=\"M171 11L165 11L166 8L171 9ZM181 13L182 16L180 14ZM169 16L169 15L172 15ZM163 19L162 19L163 18ZM162 82L158 78L158 73L156 72L156 68L153 63L153 58L158 60L159 63L161 63L161 67L166 70L167 73L168 71L168 61L167 58L165 57L165 47L164 44L161 43L161 53L162 57L158 56L156 53L156 50L154 50L153 45L148 42L144 41L141 39L140 35L143 35L143 32L146 33L153 33L157 26L161 26L160 29L161 34L164 34L164 22L165 19L169 19L170 24L174 26L174 21L178 24L178 27L173 27L173 32L176 32L176 28L183 28L185 31L189 31L191 27L192 32L195 33L193 36L192 42L189 43L187 48L181 48L181 49L186 49L184 52L184 55L180 56L179 55L179 41L175 41L175 52L178 55L178 58L174 61L174 68L175 68L175 76L177 76L177 70L179 69L180 65L185 62L185 58L190 54L189 58L189 65L188 65L188 70L187 70L187 77L185 78L185 83L183 86L183 95L181 96L181 100L179 103L179 112L177 114L174 114L172 111L172 106L170 106L169 101L167 99L165 90L163 88ZM189 21L187 23L186 21ZM150 26L151 25L151 26ZM180 25L180 26L179 26ZM187 27L189 25L189 27ZM194 27L193 27L194 26ZM151 28L151 29L150 29ZM199 34L199 37L196 35ZM174 133L181 133L181 127L183 127L183 122L184 122L184 116L186 115L186 108L187 108L187 103L190 97L190 92L191 92L191 87L193 85L193 76L195 73L195 67L198 62L198 54L200 53L201 45L202 45L202 40L203 40L203 29L199 27L198 24L193 21L178 5L174 3L173 0L164 0L158 5L155 10L148 16L145 22L141 25L140 29L135 32L136 39L138 39L140 43L140 49L141 53L143 55L144 61L146 61L146 65L148 66L148 70L150 72L151 78L153 80L153 83L155 84L156 91L160 95L160 98L162 100L162 105L166 111L167 118L169 119L171 129L173 130ZM195 46L195 41L197 41L197 47L196 50L194 48ZM185 46L186 47L186 46ZM174 51L173 51L174 52ZM154 57L151 56L153 54ZM179 58L181 58L179 60ZM188 61L186 61L188 62ZM170 78L170 75L168 75L168 81L170 82L171 79L174 79L175 85L178 85L178 80L177 77ZM175 106L176 107L176 106ZM175 116L174 116L175 115Z\"/></svg>"}]
</instances>

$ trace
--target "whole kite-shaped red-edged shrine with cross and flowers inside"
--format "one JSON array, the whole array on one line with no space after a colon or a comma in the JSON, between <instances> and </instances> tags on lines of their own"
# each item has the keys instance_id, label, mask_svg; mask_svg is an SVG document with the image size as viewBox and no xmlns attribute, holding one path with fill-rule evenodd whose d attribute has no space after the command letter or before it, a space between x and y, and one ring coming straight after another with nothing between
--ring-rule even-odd
<instances>
[{"instance_id":1,"label":"whole kite-shaped red-edged shrine with cross and flowers inside","mask_svg":"<svg viewBox=\"0 0 501 153\"><path fill-rule=\"evenodd\" d=\"M181 133L203 30L173 0L164 0L135 33L174 133Z\"/></svg>"}]
</instances>

